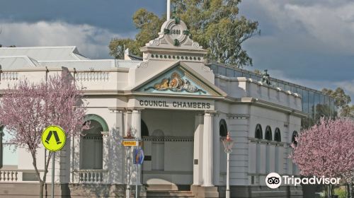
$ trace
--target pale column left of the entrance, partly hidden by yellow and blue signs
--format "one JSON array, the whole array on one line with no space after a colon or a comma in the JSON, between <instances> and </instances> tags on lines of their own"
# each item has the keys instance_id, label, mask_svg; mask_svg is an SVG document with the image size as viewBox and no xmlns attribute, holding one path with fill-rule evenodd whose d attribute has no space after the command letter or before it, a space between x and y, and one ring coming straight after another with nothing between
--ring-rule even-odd
<instances>
[{"instance_id":1,"label":"pale column left of the entrance, partly hidden by yellow and blue signs","mask_svg":"<svg viewBox=\"0 0 354 198\"><path fill-rule=\"evenodd\" d=\"M132 110L132 135L135 136L136 139L141 140L142 139L142 132L141 132L141 110ZM132 153L130 156L131 158L133 157ZM142 175L142 168L140 165L137 165L138 168L136 168L135 164L132 164L132 176L135 175L135 180L132 180L132 184L135 185L136 182L138 185L142 184L142 181L140 180L140 175ZM133 179L133 177L132 177Z\"/></svg>"}]
</instances>

